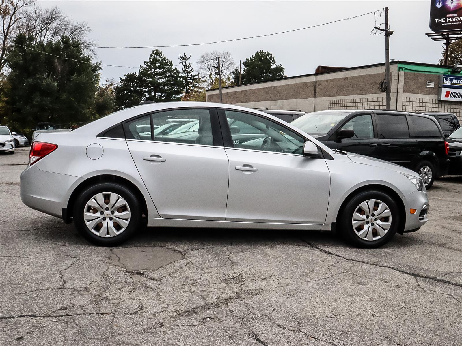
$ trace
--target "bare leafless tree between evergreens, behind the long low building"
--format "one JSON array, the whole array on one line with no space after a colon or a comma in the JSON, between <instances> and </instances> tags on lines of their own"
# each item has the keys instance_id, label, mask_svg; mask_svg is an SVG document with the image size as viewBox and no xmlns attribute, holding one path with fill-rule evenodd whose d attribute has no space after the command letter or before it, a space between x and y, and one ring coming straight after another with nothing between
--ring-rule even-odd
<instances>
[{"instance_id":1,"label":"bare leafless tree between evergreens, behind the long low building","mask_svg":"<svg viewBox=\"0 0 462 346\"><path fill-rule=\"evenodd\" d=\"M210 53L204 53L198 60L198 70L201 75L205 78L206 88L209 89L214 84L217 76L217 69L213 66L217 66L217 58L220 57L221 65L221 78L224 81L231 79L232 71L234 70L235 64L231 52L224 50L223 52L217 52L214 50Z\"/></svg>"}]
</instances>

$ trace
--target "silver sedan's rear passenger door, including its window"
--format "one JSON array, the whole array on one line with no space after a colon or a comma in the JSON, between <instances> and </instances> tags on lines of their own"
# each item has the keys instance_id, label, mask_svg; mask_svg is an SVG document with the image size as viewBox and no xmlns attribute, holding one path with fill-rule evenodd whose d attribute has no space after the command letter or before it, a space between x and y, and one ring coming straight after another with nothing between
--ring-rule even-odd
<instances>
[{"instance_id":1,"label":"silver sedan's rear passenger door, including its window","mask_svg":"<svg viewBox=\"0 0 462 346\"><path fill-rule=\"evenodd\" d=\"M167 133L168 123L184 125ZM215 109L169 110L124 124L128 148L161 217L225 220L228 158L213 128L219 133Z\"/></svg>"}]
</instances>

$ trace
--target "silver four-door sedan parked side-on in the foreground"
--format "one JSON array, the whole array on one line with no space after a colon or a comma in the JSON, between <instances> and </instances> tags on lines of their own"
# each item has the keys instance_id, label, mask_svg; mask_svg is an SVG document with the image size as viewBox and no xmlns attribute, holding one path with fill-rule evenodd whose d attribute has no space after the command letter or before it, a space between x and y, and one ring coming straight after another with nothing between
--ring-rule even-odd
<instances>
[{"instance_id":1,"label":"silver four-door sedan parked side-on in the foreground","mask_svg":"<svg viewBox=\"0 0 462 346\"><path fill-rule=\"evenodd\" d=\"M146 131L172 119L197 125ZM411 170L333 151L269 114L206 102L145 104L38 134L21 199L107 246L147 225L336 229L377 247L419 229L429 208Z\"/></svg>"}]
</instances>

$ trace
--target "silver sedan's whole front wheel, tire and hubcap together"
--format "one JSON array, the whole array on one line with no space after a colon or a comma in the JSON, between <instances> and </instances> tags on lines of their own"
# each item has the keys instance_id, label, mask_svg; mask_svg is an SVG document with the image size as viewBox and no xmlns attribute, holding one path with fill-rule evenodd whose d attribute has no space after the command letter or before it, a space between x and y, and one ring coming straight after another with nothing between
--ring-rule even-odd
<instances>
[{"instance_id":1,"label":"silver sedan's whole front wheel, tire and hubcap together","mask_svg":"<svg viewBox=\"0 0 462 346\"><path fill-rule=\"evenodd\" d=\"M365 191L354 196L339 218L346 240L365 248L382 246L393 238L400 225L396 202L382 191Z\"/></svg>"}]
</instances>

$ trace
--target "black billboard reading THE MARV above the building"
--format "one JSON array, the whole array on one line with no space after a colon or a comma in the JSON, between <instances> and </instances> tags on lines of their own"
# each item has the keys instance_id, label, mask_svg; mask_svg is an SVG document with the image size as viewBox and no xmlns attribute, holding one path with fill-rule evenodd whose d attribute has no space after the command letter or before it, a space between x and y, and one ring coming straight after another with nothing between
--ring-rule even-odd
<instances>
[{"instance_id":1,"label":"black billboard reading THE MARV above the building","mask_svg":"<svg viewBox=\"0 0 462 346\"><path fill-rule=\"evenodd\" d=\"M431 0L430 30L462 30L462 0Z\"/></svg>"}]
</instances>

